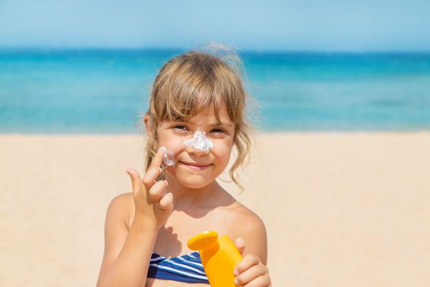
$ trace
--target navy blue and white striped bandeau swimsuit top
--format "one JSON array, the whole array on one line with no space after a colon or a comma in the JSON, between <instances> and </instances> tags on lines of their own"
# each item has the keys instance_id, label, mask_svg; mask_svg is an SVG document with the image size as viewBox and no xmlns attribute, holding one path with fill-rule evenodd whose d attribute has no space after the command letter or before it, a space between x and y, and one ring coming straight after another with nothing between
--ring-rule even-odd
<instances>
[{"instance_id":1,"label":"navy blue and white striped bandeau swimsuit top","mask_svg":"<svg viewBox=\"0 0 430 287\"><path fill-rule=\"evenodd\" d=\"M172 258L152 253L147 277L209 284L199 251Z\"/></svg>"}]
</instances>

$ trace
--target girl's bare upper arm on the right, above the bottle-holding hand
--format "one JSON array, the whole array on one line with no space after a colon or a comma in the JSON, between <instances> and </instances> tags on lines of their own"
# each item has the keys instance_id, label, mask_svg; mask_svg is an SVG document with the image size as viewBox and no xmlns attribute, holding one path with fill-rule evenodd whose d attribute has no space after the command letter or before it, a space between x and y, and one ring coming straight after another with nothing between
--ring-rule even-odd
<instances>
[{"instance_id":1,"label":"girl's bare upper arm on the right, above the bottle-holding hand","mask_svg":"<svg viewBox=\"0 0 430 287\"><path fill-rule=\"evenodd\" d=\"M231 240L242 237L245 240L244 255L257 255L263 264L267 264L267 231L262 219L240 202L236 202L230 212Z\"/></svg>"}]
</instances>

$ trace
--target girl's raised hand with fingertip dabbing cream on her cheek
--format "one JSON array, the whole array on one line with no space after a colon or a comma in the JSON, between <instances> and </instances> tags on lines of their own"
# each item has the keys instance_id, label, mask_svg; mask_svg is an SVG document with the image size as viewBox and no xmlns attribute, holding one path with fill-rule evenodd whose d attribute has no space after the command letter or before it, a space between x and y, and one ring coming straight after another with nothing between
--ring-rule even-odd
<instances>
[{"instance_id":1,"label":"girl's raised hand with fingertip dabbing cream on her cheek","mask_svg":"<svg viewBox=\"0 0 430 287\"><path fill-rule=\"evenodd\" d=\"M166 194L165 190L168 182L155 181L162 172L160 167L162 162L163 151L159 149L143 178L140 178L135 169L127 169L135 201L134 220L141 220L144 225L155 226L157 231L166 223L173 210L173 194Z\"/></svg>"}]
</instances>

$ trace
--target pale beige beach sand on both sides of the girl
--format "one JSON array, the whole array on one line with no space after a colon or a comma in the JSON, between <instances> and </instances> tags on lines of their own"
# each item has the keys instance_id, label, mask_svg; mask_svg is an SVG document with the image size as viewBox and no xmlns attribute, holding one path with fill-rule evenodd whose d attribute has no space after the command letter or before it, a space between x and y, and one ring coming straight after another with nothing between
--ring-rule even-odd
<instances>
[{"instance_id":1,"label":"pale beige beach sand on both sides of the girl","mask_svg":"<svg viewBox=\"0 0 430 287\"><path fill-rule=\"evenodd\" d=\"M258 137L237 198L266 224L273 286L429 286L429 132ZM0 135L0 286L95 286L106 208L142 144Z\"/></svg>"}]
</instances>

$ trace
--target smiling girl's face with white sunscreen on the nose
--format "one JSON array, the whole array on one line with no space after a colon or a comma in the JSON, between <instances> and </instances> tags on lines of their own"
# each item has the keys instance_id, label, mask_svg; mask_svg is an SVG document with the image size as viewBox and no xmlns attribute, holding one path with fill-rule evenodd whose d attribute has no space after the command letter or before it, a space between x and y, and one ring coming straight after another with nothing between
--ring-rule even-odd
<instances>
[{"instance_id":1,"label":"smiling girl's face with white sunscreen on the nose","mask_svg":"<svg viewBox=\"0 0 430 287\"><path fill-rule=\"evenodd\" d=\"M234 123L225 107L219 111L221 123L216 122L213 107L207 107L188 122L162 121L157 128L159 147L174 153L176 164L167 168L168 177L181 185L199 189L213 182L227 167L233 147ZM205 131L214 147L206 153L183 144L193 138L196 131Z\"/></svg>"}]
</instances>

